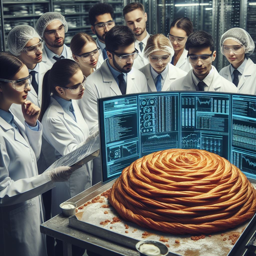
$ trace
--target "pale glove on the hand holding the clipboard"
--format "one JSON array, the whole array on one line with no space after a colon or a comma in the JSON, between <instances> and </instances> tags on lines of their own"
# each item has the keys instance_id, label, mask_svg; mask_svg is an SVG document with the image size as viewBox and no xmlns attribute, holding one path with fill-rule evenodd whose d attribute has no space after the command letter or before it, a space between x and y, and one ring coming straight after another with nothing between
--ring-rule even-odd
<instances>
[{"instance_id":1,"label":"pale glove on the hand holding the clipboard","mask_svg":"<svg viewBox=\"0 0 256 256\"><path fill-rule=\"evenodd\" d=\"M80 167L81 166L79 165L74 165L71 167L59 166L49 170L50 178L53 182L65 182L70 178L71 174Z\"/></svg>"}]
</instances>

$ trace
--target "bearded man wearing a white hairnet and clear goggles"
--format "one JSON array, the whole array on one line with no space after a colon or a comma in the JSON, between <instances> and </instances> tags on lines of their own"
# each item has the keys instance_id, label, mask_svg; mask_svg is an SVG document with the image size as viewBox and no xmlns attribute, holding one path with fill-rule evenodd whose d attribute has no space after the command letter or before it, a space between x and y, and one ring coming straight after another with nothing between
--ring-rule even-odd
<instances>
[{"instance_id":1,"label":"bearded man wearing a white hairnet and clear goggles","mask_svg":"<svg viewBox=\"0 0 256 256\"><path fill-rule=\"evenodd\" d=\"M44 13L36 23L36 31L44 39L42 61L52 66L60 59L73 59L72 52L64 44L68 24L65 17L59 13Z\"/></svg>"}]
</instances>

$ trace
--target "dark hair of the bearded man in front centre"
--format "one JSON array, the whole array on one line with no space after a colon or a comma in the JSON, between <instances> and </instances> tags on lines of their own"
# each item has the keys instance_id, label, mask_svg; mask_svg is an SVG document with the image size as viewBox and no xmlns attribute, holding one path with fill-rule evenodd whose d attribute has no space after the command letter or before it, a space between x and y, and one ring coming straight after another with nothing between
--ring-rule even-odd
<instances>
[{"instance_id":1,"label":"dark hair of the bearded man in front centre","mask_svg":"<svg viewBox=\"0 0 256 256\"><path fill-rule=\"evenodd\" d=\"M129 46L136 40L132 30L127 26L114 26L105 36L107 51L116 51L121 46Z\"/></svg>"}]
</instances>

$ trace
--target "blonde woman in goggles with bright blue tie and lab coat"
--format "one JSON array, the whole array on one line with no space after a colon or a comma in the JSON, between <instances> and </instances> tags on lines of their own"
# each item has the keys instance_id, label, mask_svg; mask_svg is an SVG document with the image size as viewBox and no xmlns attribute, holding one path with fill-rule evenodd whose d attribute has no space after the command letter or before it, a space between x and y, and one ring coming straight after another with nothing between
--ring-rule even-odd
<instances>
[{"instance_id":1,"label":"blonde woman in goggles with bright blue tie and lab coat","mask_svg":"<svg viewBox=\"0 0 256 256\"><path fill-rule=\"evenodd\" d=\"M149 64L140 71L147 79L148 91L169 91L170 85L177 79L186 76L187 72L170 63L174 55L173 47L163 34L148 38L144 51Z\"/></svg>"}]
</instances>

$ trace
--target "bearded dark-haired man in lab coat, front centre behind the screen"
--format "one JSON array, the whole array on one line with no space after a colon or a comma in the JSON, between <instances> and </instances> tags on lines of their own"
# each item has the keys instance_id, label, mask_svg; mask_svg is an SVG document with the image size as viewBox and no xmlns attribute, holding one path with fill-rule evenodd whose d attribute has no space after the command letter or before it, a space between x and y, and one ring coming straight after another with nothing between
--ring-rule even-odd
<instances>
[{"instance_id":1,"label":"bearded dark-haired man in lab coat, front centre behind the screen","mask_svg":"<svg viewBox=\"0 0 256 256\"><path fill-rule=\"evenodd\" d=\"M79 100L90 133L99 129L97 99L148 91L144 74L132 68L138 54L135 40L127 26L115 26L105 36L108 59L87 78L84 97Z\"/></svg>"}]
</instances>

